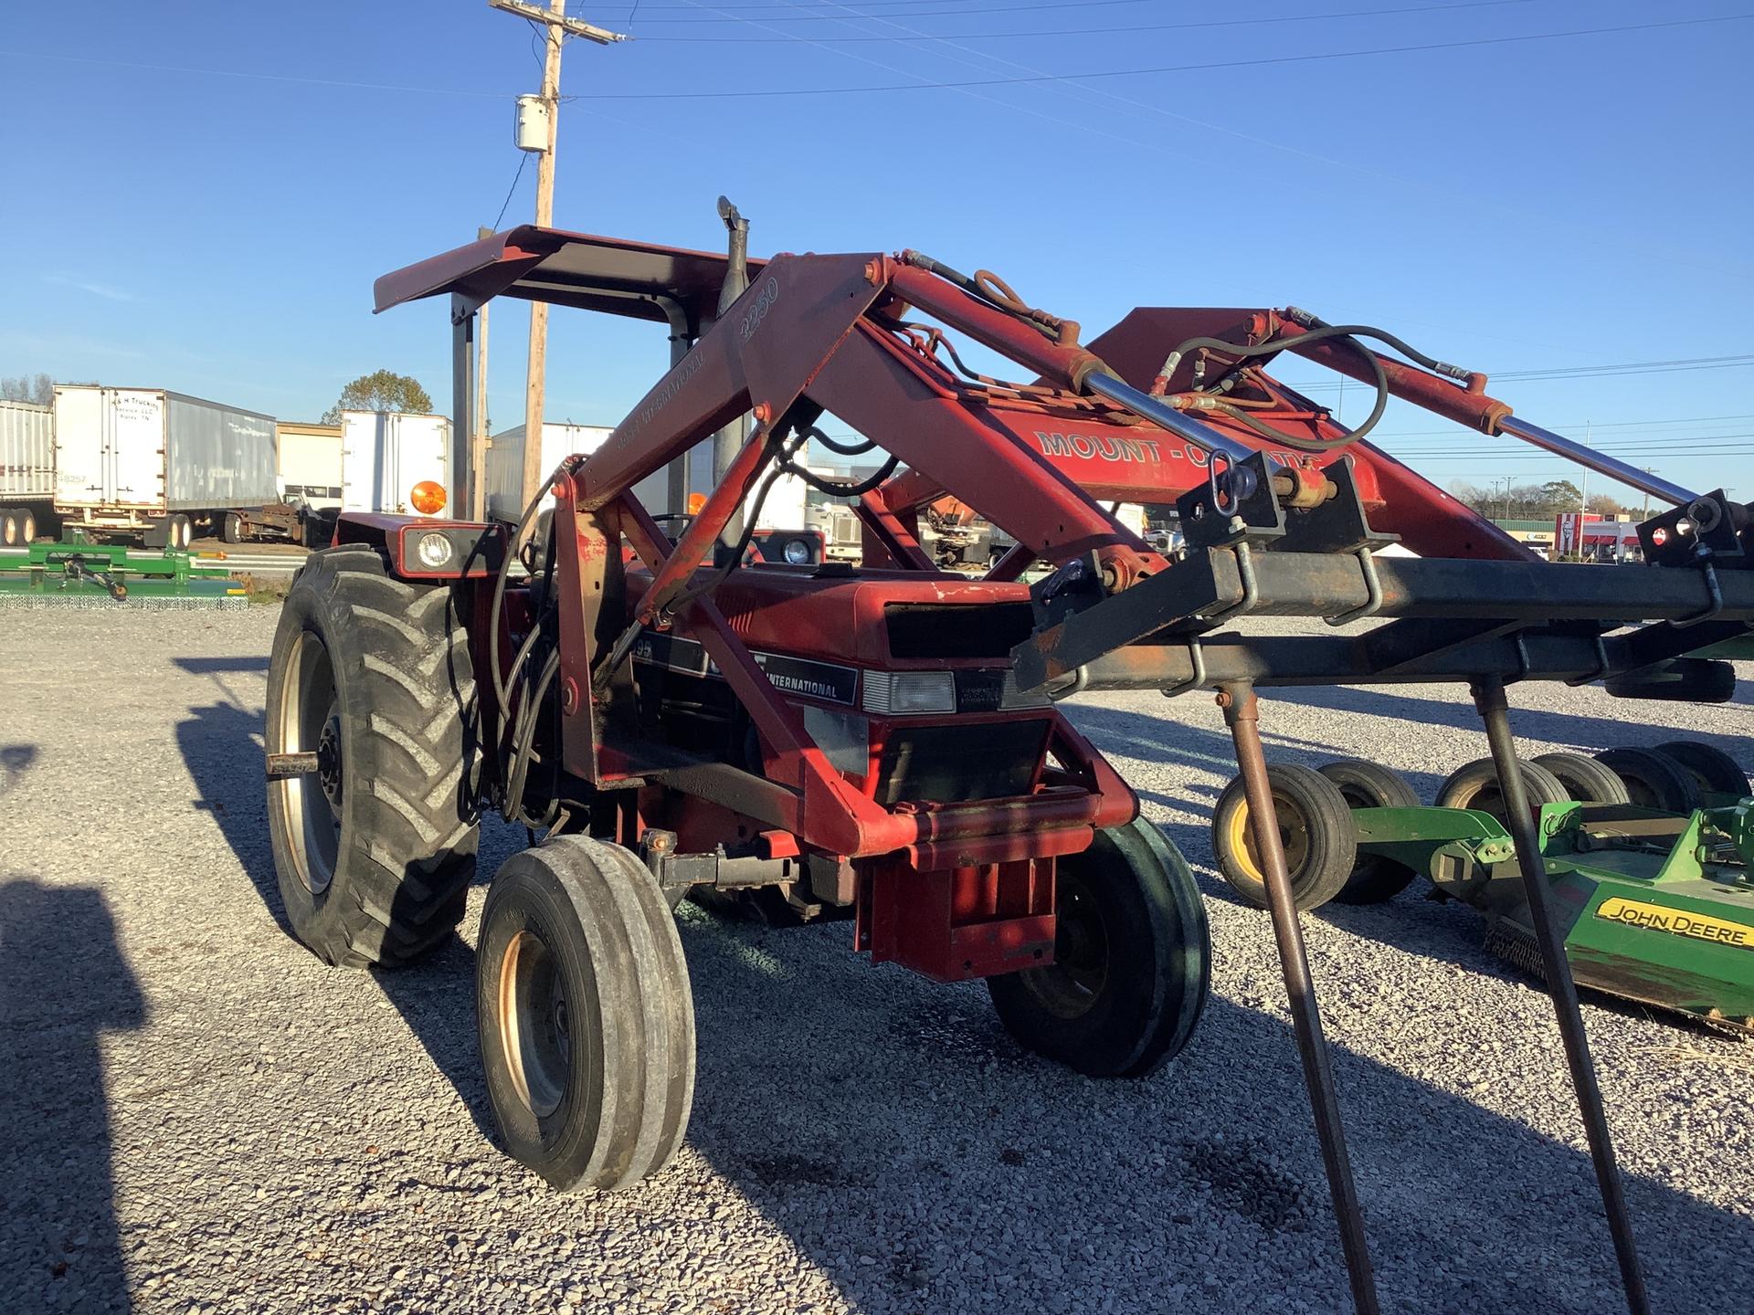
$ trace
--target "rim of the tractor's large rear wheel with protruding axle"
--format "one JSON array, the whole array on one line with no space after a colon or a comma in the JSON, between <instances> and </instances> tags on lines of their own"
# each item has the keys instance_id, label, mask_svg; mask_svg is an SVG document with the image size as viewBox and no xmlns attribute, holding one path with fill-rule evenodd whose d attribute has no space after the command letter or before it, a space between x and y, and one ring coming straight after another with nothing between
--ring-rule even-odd
<instances>
[{"instance_id":1,"label":"rim of the tractor's large rear wheel with protruding axle","mask_svg":"<svg viewBox=\"0 0 1754 1315\"><path fill-rule=\"evenodd\" d=\"M340 701L328 649L312 631L298 636L286 672L275 717L281 752L316 750L316 777L288 777L279 787L279 808L293 868L312 896L335 880L340 854L340 817L346 764L340 745Z\"/></svg>"}]
</instances>

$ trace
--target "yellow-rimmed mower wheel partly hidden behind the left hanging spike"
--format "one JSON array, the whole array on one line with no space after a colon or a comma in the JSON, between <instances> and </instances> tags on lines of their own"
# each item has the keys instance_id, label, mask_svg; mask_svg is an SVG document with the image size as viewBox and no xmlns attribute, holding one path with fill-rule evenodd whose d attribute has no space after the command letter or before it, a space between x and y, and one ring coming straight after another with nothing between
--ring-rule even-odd
<instances>
[{"instance_id":1,"label":"yellow-rimmed mower wheel partly hidden behind the left hanging spike","mask_svg":"<svg viewBox=\"0 0 1754 1315\"><path fill-rule=\"evenodd\" d=\"M1345 887L1358 863L1352 810L1340 787L1312 768L1275 763L1266 768L1266 780L1286 847L1291 899L1301 910L1321 908ZM1266 908L1266 873L1254 847L1242 777L1224 787L1212 808L1212 854L1231 889Z\"/></svg>"}]
</instances>

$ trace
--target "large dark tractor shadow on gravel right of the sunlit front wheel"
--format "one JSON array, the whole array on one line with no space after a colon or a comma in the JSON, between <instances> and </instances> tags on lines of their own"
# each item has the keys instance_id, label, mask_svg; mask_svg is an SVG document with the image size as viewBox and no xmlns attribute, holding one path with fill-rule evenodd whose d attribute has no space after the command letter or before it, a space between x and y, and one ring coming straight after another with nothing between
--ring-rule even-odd
<instances>
[{"instance_id":1,"label":"large dark tractor shadow on gravel right of the sunlit front wheel","mask_svg":"<svg viewBox=\"0 0 1754 1315\"><path fill-rule=\"evenodd\" d=\"M1284 1022L1214 996L1159 1073L1093 1082L1021 1052L979 985L859 963L845 928L691 910L682 940L689 1147L851 1306L1351 1310ZM1333 1061L1386 1310L1622 1308L1586 1154L1356 1052ZM1651 1178L1628 1194L1658 1310L1754 1303L1754 1220Z\"/></svg>"}]
</instances>

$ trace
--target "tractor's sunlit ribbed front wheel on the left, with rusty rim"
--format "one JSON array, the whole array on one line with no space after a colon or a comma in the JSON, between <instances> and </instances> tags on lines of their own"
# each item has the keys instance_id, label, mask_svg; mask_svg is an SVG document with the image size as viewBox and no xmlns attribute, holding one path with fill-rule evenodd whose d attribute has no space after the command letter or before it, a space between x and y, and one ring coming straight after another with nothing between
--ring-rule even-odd
<instances>
[{"instance_id":1,"label":"tractor's sunlit ribbed front wheel on the left, with rusty rim","mask_svg":"<svg viewBox=\"0 0 1754 1315\"><path fill-rule=\"evenodd\" d=\"M505 1148L563 1192L658 1173L695 1099L695 1001L675 919L631 852L560 836L505 861L475 954Z\"/></svg>"}]
</instances>

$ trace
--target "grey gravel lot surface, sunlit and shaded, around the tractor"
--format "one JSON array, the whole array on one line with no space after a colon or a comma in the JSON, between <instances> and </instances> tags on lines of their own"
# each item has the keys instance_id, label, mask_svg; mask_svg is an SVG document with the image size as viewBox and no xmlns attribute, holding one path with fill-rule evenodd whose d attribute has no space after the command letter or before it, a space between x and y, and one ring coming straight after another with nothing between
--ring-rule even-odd
<instances>
[{"instance_id":1,"label":"grey gravel lot surface, sunlit and shaded, around the tractor","mask_svg":"<svg viewBox=\"0 0 1754 1315\"><path fill-rule=\"evenodd\" d=\"M272 608L0 614L0 1306L142 1311L1330 1311L1338 1243L1265 915L1210 877L1200 696L1077 721L1201 871L1214 991L1145 1082L1021 1054L979 985L688 906L684 1152L551 1196L493 1145L472 942L332 971L277 926L260 761ZM1754 677L1754 670L1743 670ZM1512 691L1528 750L1710 733L1721 708ZM1458 693L1265 705L1291 761L1430 796L1486 752ZM1622 724L1622 715L1649 724ZM517 843L484 842L489 873ZM1473 913L1307 919L1389 1310L1617 1308L1545 996ZM1754 1310L1754 1045L1586 1006L1665 1311Z\"/></svg>"}]
</instances>

